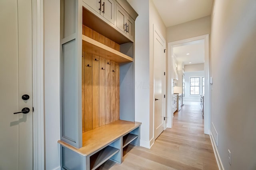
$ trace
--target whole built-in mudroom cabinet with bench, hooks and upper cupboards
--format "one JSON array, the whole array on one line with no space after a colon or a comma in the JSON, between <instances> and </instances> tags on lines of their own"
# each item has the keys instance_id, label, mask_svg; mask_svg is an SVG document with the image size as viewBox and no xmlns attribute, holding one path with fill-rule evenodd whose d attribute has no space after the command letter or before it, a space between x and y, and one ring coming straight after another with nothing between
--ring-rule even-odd
<instances>
[{"instance_id":1,"label":"whole built-in mudroom cabinet with bench, hooks and upper cupboards","mask_svg":"<svg viewBox=\"0 0 256 170\"><path fill-rule=\"evenodd\" d=\"M94 170L140 144L134 108L138 14L126 0L61 0L60 163Z\"/></svg>"}]
</instances>

